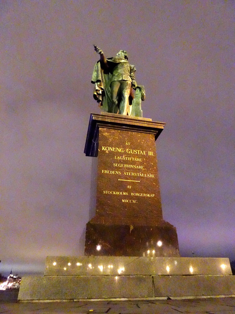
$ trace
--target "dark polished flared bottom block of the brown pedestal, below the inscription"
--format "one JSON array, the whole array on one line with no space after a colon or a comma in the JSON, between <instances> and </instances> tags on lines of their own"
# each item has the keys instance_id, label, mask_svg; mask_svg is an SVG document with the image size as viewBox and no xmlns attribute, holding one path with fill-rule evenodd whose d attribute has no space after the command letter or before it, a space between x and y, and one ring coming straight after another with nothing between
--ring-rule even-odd
<instances>
[{"instance_id":1,"label":"dark polished flared bottom block of the brown pedestal, below the inscription","mask_svg":"<svg viewBox=\"0 0 235 314\"><path fill-rule=\"evenodd\" d=\"M179 257L176 228L166 221L157 226L86 224L85 255Z\"/></svg>"}]
</instances>

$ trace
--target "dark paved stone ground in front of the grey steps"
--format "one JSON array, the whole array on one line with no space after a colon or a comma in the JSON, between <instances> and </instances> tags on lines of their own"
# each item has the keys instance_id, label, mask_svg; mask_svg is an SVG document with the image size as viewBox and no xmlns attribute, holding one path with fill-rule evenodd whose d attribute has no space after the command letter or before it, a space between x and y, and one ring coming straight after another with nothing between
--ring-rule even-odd
<instances>
[{"instance_id":1,"label":"dark paved stone ground in front of the grey steps","mask_svg":"<svg viewBox=\"0 0 235 314\"><path fill-rule=\"evenodd\" d=\"M235 298L36 303L2 302L0 304L0 313L7 314L235 314Z\"/></svg>"}]
</instances>

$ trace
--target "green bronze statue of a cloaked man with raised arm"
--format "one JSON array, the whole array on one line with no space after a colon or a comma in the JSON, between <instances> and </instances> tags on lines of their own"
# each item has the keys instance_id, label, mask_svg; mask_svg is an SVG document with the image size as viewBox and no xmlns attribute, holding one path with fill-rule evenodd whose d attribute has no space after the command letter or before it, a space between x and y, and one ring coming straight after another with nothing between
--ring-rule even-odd
<instances>
[{"instance_id":1,"label":"green bronze statue of a cloaked man with raised arm","mask_svg":"<svg viewBox=\"0 0 235 314\"><path fill-rule=\"evenodd\" d=\"M116 57L106 59L100 48L95 45L94 48L100 60L95 65L91 83L95 84L93 97L102 106L102 111L142 117L144 86L137 86L136 69L129 64L127 52L120 50Z\"/></svg>"}]
</instances>

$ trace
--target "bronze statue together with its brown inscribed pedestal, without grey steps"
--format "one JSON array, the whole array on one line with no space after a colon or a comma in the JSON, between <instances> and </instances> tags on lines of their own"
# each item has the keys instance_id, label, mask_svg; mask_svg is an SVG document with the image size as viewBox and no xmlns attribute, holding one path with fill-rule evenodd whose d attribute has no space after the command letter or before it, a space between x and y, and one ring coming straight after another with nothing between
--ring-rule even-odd
<instances>
[{"instance_id":1,"label":"bronze statue together with its brown inscribed pedestal, without grey steps","mask_svg":"<svg viewBox=\"0 0 235 314\"><path fill-rule=\"evenodd\" d=\"M84 151L98 158L85 255L177 257L176 229L162 216L155 148L165 123L142 117L144 86L137 85L127 52L106 59L94 47L100 60L91 82L103 114L91 114Z\"/></svg>"}]
</instances>

